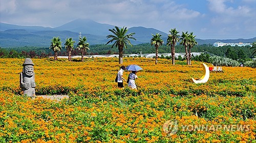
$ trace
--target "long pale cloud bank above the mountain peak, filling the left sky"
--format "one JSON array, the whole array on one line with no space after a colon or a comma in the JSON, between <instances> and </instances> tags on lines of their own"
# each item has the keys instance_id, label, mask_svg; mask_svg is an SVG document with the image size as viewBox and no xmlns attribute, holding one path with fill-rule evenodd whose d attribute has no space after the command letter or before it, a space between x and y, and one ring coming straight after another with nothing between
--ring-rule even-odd
<instances>
[{"instance_id":1,"label":"long pale cloud bank above the mountain peak, filling the left sky","mask_svg":"<svg viewBox=\"0 0 256 143\"><path fill-rule=\"evenodd\" d=\"M54 27L77 18L89 18L97 22L120 26L125 24L127 26L143 24L140 26L154 27L158 21L164 22L169 19L186 20L200 15L197 11L188 10L182 7L182 5L177 5L167 0L0 1L6 5L11 2L14 4L17 3L16 5L9 5L9 8L6 7L6 11L12 10L12 12L4 13L4 17L7 21L19 21L20 24L24 25L41 24L52 25ZM14 6L16 8L13 8ZM15 15L13 14L14 12L16 12Z\"/></svg>"}]
</instances>

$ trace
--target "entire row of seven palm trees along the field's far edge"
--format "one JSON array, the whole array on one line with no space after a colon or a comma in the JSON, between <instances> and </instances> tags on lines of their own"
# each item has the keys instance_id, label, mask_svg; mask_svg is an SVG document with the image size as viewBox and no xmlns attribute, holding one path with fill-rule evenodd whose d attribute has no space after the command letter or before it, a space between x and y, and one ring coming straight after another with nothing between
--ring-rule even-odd
<instances>
[{"instance_id":1,"label":"entire row of seven palm trees along the field's far edge","mask_svg":"<svg viewBox=\"0 0 256 143\"><path fill-rule=\"evenodd\" d=\"M108 35L106 36L106 38L110 38L111 40L108 41L106 43L113 43L112 48L118 47L119 50L119 64L123 63L123 48L127 48L127 45L132 46L130 39L136 40L133 35L135 33L130 33L127 34L128 29L127 27L122 27L121 29L119 29L118 26L115 26L115 28L113 29L109 29L110 32L112 32L114 35ZM175 45L177 42L180 42L180 44L184 45L185 47L185 57L187 60L187 65L191 64L191 48L197 44L196 39L193 35L193 33L188 34L188 32L184 33L182 32L182 36L178 35L178 31L176 30L176 28L171 29L170 34L168 35L167 38L167 46L170 45L171 51L172 51L172 64L175 65ZM164 42L161 39L161 36L159 33L156 35L153 35L153 38L151 39L151 45L155 45L156 48L156 61L155 64L157 64L157 59L158 59L158 47L161 46ZM73 50L74 47L74 43L75 41L72 40L72 38L68 38L66 39L66 43L65 43L65 48L67 49L67 52L69 54L69 58L68 60L71 61L71 51ZM188 48L187 48L188 47ZM82 56L82 61L83 61L83 54L84 51L86 51L87 49L89 49L89 43L86 43L86 37L79 37L79 43L77 44L77 48L81 51L81 56ZM54 51L54 60L57 60L57 52L61 50L61 42L60 39L58 37L54 37L52 39L52 43L50 46L50 49L52 49Z\"/></svg>"}]
</instances>

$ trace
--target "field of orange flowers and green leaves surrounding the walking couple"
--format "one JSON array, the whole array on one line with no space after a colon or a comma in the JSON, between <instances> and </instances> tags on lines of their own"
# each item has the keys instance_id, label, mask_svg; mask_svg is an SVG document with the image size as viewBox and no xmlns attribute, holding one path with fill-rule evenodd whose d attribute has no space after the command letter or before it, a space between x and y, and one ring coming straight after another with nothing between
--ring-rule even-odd
<instances>
[{"instance_id":1,"label":"field of orange flowers and green leaves surrounding the walking couple","mask_svg":"<svg viewBox=\"0 0 256 143\"><path fill-rule=\"evenodd\" d=\"M32 60L36 95L70 98L22 96L24 59L1 59L0 142L256 142L255 68L222 67L195 84L189 78L202 76L200 62L124 58L124 66L143 68L135 91L127 83L117 88L118 58ZM168 120L177 121L177 132L163 129ZM195 125L236 128L191 129Z\"/></svg>"}]
</instances>

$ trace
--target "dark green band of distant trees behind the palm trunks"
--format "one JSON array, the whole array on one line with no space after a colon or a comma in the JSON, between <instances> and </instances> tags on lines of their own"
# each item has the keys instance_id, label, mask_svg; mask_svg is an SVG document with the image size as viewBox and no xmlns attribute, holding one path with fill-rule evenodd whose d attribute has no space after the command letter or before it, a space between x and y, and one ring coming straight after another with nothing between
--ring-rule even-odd
<instances>
[{"instance_id":1,"label":"dark green band of distant trees behind the palm trunks","mask_svg":"<svg viewBox=\"0 0 256 143\"><path fill-rule=\"evenodd\" d=\"M118 54L118 48L111 48L112 45L105 45L105 44L96 44L96 45L90 45L90 52L85 52L84 55L93 55L93 54ZM211 44L202 44L202 45L196 45L193 48L191 48L191 52L204 52L208 51L212 54L218 55L218 56L225 56L225 52L230 47L235 53L238 54L239 62L244 63L246 61L251 61L254 56L252 55L252 49L250 49L250 46L223 46L223 47L215 47L211 46ZM0 48L0 58L8 58L8 57L14 57L14 55L9 56L9 53L11 50L17 51L19 54L16 55L15 58L32 58L32 51L35 53L35 58L45 58L49 55L53 55L53 50L47 48L47 47L34 47L34 46L24 46L24 47L18 47L18 48ZM171 49L169 46L162 45L158 48L159 53L171 53ZM127 45L127 48L123 50L124 54L130 54L130 53L155 53L155 47L152 46L150 43L143 43L138 45L133 45L131 47L130 45ZM175 52L185 52L183 45L176 45L175 46ZM241 53L241 54L240 54ZM65 48L61 49L58 52L58 55L68 55ZM80 51L77 49L72 51L72 55L81 55ZM176 60L176 59L175 59ZM237 60L237 59L236 59Z\"/></svg>"}]
</instances>

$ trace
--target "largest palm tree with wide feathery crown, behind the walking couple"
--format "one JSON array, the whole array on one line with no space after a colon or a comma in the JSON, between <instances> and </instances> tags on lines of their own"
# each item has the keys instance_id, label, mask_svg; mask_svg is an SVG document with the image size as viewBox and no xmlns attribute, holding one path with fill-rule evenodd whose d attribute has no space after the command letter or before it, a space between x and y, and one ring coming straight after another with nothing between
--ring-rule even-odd
<instances>
[{"instance_id":1,"label":"largest palm tree with wide feathery crown, behind the walking couple","mask_svg":"<svg viewBox=\"0 0 256 143\"><path fill-rule=\"evenodd\" d=\"M108 39L112 38L109 42L106 43L106 45L108 45L110 42L112 43L113 41L115 41L115 43L112 45L111 48L113 48L114 45L116 47L118 47L118 50L119 50L119 64L122 64L123 63L123 48L127 48L126 44L129 44L130 46L133 46L129 39L136 40L133 37L133 35L135 33L130 33L130 34L125 35L128 31L127 27L124 28L124 26L123 26L121 29L119 29L118 26L115 26L115 28L113 28L112 30L109 29L109 31L112 32L114 35L106 36L106 38L108 38Z\"/></svg>"}]
</instances>

